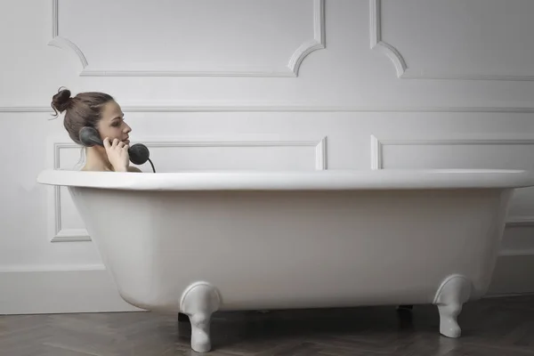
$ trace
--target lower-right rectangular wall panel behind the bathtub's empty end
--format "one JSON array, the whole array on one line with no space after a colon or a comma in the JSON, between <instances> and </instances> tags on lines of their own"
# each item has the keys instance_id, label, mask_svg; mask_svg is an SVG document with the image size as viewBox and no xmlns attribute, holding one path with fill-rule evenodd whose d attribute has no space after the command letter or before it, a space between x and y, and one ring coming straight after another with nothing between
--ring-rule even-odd
<instances>
[{"instance_id":1,"label":"lower-right rectangular wall panel behind the bathtub's empty end","mask_svg":"<svg viewBox=\"0 0 534 356\"><path fill-rule=\"evenodd\" d=\"M373 169L532 169L534 140L520 135L500 139L388 137L371 135ZM514 191L502 255L534 255L534 187Z\"/></svg>"}]
</instances>

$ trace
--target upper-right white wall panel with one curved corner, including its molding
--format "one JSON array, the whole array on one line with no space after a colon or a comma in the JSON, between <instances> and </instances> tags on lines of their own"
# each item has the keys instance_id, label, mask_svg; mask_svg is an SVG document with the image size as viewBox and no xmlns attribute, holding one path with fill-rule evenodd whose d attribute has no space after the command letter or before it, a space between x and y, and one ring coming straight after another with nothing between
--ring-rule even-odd
<instances>
[{"instance_id":1,"label":"upper-right white wall panel with one curved corner, including its molding","mask_svg":"<svg viewBox=\"0 0 534 356\"><path fill-rule=\"evenodd\" d=\"M534 80L529 0L374 0L371 9L374 42L399 77Z\"/></svg>"}]
</instances>

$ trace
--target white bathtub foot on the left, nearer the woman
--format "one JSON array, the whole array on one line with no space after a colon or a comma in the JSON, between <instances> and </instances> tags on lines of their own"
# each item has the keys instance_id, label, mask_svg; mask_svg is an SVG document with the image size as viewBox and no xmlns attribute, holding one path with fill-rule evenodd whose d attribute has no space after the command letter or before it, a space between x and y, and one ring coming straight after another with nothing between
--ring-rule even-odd
<instances>
[{"instance_id":1,"label":"white bathtub foot on the left, nearer the woman","mask_svg":"<svg viewBox=\"0 0 534 356\"><path fill-rule=\"evenodd\" d=\"M210 321L219 309L221 298L216 288L206 282L190 285L182 295L181 312L191 323L191 348L195 352L211 350Z\"/></svg>"}]
</instances>

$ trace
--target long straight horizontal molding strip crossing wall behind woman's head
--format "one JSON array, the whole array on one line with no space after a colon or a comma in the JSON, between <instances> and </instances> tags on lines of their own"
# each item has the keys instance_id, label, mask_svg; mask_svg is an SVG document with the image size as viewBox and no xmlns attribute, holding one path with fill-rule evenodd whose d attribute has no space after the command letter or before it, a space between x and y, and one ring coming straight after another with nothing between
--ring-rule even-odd
<instances>
[{"instance_id":1,"label":"long straight horizontal molding strip crossing wall behind woman's head","mask_svg":"<svg viewBox=\"0 0 534 356\"><path fill-rule=\"evenodd\" d=\"M292 105L291 103L266 103L255 105L245 102L220 103L183 103L170 105L121 105L125 112L449 112L449 113L511 113L532 114L534 107L364 107L364 106L312 106ZM49 112L50 106L0 106L0 113Z\"/></svg>"}]
</instances>

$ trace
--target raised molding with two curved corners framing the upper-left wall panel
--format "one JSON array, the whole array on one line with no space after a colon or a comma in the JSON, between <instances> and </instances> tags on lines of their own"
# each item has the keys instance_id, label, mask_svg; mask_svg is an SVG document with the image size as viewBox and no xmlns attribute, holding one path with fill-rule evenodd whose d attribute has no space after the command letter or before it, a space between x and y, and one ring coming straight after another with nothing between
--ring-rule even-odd
<instances>
[{"instance_id":1,"label":"raised molding with two curved corners framing the upper-left wall panel","mask_svg":"<svg viewBox=\"0 0 534 356\"><path fill-rule=\"evenodd\" d=\"M306 56L314 51L326 48L325 35L325 0L313 1L313 38L304 41L295 49L286 67L244 68L244 69L204 69L204 70L120 70L120 69L92 69L83 51L60 35L59 28L59 0L52 0L53 28L52 40L49 45L72 51L77 54L82 63L80 77L298 77L300 66Z\"/></svg>"}]
</instances>

